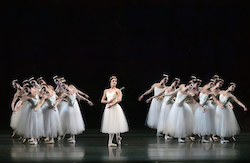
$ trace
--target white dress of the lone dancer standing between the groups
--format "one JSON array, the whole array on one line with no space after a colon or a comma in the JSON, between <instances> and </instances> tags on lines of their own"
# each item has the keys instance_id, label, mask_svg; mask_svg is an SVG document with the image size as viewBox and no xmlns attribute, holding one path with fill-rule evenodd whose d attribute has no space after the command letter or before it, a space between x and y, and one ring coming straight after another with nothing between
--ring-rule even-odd
<instances>
[{"instance_id":1,"label":"white dress of the lone dancer standing between the groups","mask_svg":"<svg viewBox=\"0 0 250 163\"><path fill-rule=\"evenodd\" d=\"M115 92L106 92L107 100L111 100L115 97ZM115 104L111 108L108 108L106 104L103 116L102 116L102 125L101 132L116 134L127 132L128 122L124 115L124 112L119 104Z\"/></svg>"}]
</instances>

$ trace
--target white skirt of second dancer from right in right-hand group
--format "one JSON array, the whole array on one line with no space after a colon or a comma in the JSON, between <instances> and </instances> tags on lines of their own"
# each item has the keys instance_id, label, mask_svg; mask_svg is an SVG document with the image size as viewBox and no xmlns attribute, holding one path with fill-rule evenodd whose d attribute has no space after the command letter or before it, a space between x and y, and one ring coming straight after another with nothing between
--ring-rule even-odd
<instances>
[{"instance_id":1,"label":"white skirt of second dancer from right in right-hand group","mask_svg":"<svg viewBox=\"0 0 250 163\"><path fill-rule=\"evenodd\" d=\"M194 114L194 134L201 136L214 134L214 108L211 103L203 106L205 112L202 112L202 108L198 107Z\"/></svg>"}]
</instances>

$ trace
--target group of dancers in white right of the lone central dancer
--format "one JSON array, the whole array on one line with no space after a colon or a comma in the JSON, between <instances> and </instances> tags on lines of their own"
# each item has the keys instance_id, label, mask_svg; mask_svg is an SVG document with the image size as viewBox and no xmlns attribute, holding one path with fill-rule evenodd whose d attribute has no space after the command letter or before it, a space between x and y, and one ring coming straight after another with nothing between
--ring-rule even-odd
<instances>
[{"instance_id":1,"label":"group of dancers in white right of the lone central dancer","mask_svg":"<svg viewBox=\"0 0 250 163\"><path fill-rule=\"evenodd\" d=\"M227 143L225 137L232 137L240 132L231 102L235 101L247 111L232 92L236 84L231 82L226 90L220 90L224 80L214 75L211 80L201 87L202 81L195 76L186 84L180 84L179 78L174 78L171 85L166 86L168 75L163 74L159 83L155 83L140 97L154 92L146 100L150 103L146 125L157 129L157 136L165 135L165 139L178 138L184 143L184 138L194 141L195 135L201 136L201 142L207 143L221 138L221 143ZM179 86L179 87L178 87Z\"/></svg>"}]
</instances>

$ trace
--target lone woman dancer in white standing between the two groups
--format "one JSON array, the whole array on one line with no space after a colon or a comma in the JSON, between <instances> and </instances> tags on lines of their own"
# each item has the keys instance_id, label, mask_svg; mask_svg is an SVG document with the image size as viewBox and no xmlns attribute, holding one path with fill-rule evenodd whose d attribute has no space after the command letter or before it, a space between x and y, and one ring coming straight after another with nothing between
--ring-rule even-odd
<instances>
[{"instance_id":1,"label":"lone woman dancer in white standing between the two groups","mask_svg":"<svg viewBox=\"0 0 250 163\"><path fill-rule=\"evenodd\" d=\"M114 135L116 134L116 140L118 145L121 144L122 137L120 133L127 132L128 123L121 106L118 104L122 101L122 92L116 88L117 78L116 76L110 77L110 88L105 89L101 103L106 104L103 116L101 132L109 134L108 146L116 147L113 143Z\"/></svg>"}]
</instances>

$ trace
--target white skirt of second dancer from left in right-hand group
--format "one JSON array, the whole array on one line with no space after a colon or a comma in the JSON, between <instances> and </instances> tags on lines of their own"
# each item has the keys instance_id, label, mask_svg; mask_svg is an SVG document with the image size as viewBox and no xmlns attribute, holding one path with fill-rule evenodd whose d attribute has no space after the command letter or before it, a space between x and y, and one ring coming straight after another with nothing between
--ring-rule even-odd
<instances>
[{"instance_id":1,"label":"white skirt of second dancer from left in right-hand group","mask_svg":"<svg viewBox=\"0 0 250 163\"><path fill-rule=\"evenodd\" d=\"M163 101L161 106L161 112L159 115L159 121L157 126L157 132L164 132L167 127L167 118L172 108L173 103L167 103L167 101Z\"/></svg>"}]
</instances>

